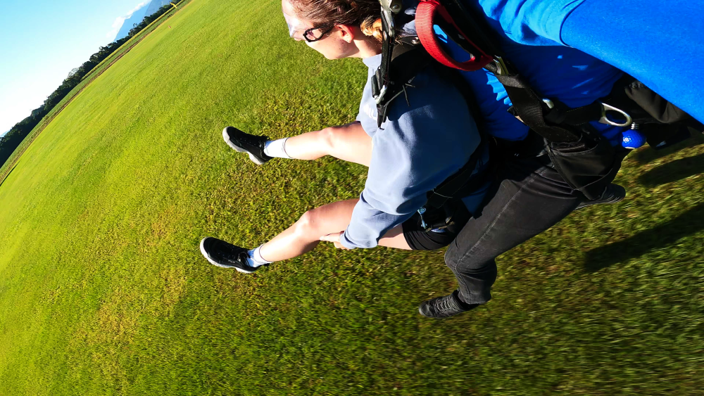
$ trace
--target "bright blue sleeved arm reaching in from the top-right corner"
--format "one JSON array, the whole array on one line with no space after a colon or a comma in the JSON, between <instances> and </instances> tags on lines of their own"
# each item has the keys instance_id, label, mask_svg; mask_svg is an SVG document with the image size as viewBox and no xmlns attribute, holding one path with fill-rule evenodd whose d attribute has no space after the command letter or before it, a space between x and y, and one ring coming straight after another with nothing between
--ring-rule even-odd
<instances>
[{"instance_id":1,"label":"bright blue sleeved arm reaching in from the top-right corner","mask_svg":"<svg viewBox=\"0 0 704 396\"><path fill-rule=\"evenodd\" d=\"M704 122L703 6L700 0L585 0L567 15L559 38Z\"/></svg>"}]
</instances>

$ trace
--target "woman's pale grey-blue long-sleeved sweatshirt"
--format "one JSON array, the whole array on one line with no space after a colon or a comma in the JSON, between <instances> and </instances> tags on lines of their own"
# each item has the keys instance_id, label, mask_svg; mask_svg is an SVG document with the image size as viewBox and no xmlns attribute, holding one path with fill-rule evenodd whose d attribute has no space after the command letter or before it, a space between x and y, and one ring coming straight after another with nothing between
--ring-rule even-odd
<instances>
[{"instance_id":1,"label":"woman's pale grey-blue long-sleeved sweatshirt","mask_svg":"<svg viewBox=\"0 0 704 396\"><path fill-rule=\"evenodd\" d=\"M365 188L340 242L346 248L373 248L386 231L405 222L425 204L427 192L460 170L477 147L482 157L474 172L486 167L489 153L460 91L432 69L420 72L389 108L377 128L377 108L371 78L381 55L364 59L369 68L357 120L372 137L372 160ZM470 212L486 187L463 198Z\"/></svg>"}]
</instances>

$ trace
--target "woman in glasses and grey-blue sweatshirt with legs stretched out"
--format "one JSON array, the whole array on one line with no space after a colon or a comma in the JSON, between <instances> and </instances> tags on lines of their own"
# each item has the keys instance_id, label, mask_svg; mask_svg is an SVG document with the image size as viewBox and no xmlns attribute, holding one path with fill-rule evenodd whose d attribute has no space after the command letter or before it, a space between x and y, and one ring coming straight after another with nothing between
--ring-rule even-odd
<instances>
[{"instance_id":1,"label":"woman in glasses and grey-blue sweatshirt with legs stretched out","mask_svg":"<svg viewBox=\"0 0 704 396\"><path fill-rule=\"evenodd\" d=\"M306 41L328 59L363 58L370 77L379 67L382 44L377 0L284 0L282 7L289 34L297 41ZM384 245L431 250L450 243L488 189L489 147L477 131L463 94L434 68L417 75L406 94L410 106L406 101L394 103L380 128L370 79L357 120L351 124L276 141L226 127L222 134L227 144L248 153L260 165L275 157L314 160L332 155L366 165L367 181L360 198L309 210L257 248L206 237L201 253L218 267L249 273L270 262L308 253L321 240L344 249ZM427 193L463 169L470 171L469 180L477 188L441 207L442 219L445 213L451 219L445 226L429 229L425 219L430 213L422 217L419 212Z\"/></svg>"}]
</instances>

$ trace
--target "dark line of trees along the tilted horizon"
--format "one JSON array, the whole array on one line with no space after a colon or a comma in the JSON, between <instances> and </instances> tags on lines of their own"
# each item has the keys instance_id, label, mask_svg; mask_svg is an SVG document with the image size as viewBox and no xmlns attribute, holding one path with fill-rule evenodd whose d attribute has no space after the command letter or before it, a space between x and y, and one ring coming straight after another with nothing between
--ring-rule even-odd
<instances>
[{"instance_id":1,"label":"dark line of trees along the tilted horizon","mask_svg":"<svg viewBox=\"0 0 704 396\"><path fill-rule=\"evenodd\" d=\"M159 8L155 13L147 15L141 23L135 23L133 25L134 27L132 27L130 32L127 34L127 37L113 41L106 46L101 46L98 52L90 56L87 61L79 67L71 70L68 73L68 77L66 77L66 79L63 80L63 83L46 98L42 106L32 110L29 117L15 124L15 126L12 127L12 129L10 129L5 136L0 137L0 166L4 164L8 158L10 158L13 151L15 151L15 148L20 146L20 143L22 143L25 137L32 132L32 129L39 124L42 118L49 114L51 109L61 102L61 100L81 82L83 77L85 77L88 72L93 70L93 68L101 63L105 58L111 56L111 54L120 48L122 44L125 44L127 40L141 32L144 27L152 23L156 20L156 18L159 18L161 15L168 12L170 9L171 5L166 5Z\"/></svg>"}]
</instances>

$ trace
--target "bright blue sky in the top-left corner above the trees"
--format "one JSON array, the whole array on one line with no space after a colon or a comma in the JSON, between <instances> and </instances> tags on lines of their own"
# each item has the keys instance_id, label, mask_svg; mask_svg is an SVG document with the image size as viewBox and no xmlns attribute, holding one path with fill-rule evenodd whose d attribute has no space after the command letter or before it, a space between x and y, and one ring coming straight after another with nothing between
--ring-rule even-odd
<instances>
[{"instance_id":1,"label":"bright blue sky in the top-left corner above the trees","mask_svg":"<svg viewBox=\"0 0 704 396\"><path fill-rule=\"evenodd\" d=\"M113 41L144 0L0 0L0 134Z\"/></svg>"}]
</instances>

